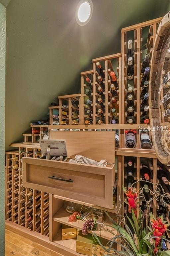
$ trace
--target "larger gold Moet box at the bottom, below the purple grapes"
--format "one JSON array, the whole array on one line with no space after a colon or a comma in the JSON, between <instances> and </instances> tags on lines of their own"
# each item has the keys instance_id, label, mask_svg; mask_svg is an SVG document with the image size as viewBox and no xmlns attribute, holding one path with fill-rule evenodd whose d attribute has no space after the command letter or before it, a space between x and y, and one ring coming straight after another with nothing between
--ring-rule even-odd
<instances>
[{"instance_id":1,"label":"larger gold Moet box at the bottom, below the purple grapes","mask_svg":"<svg viewBox=\"0 0 170 256\"><path fill-rule=\"evenodd\" d=\"M76 252L92 256L95 252L96 245L91 234L86 236L82 235L82 231L79 231L76 240Z\"/></svg>"}]
</instances>

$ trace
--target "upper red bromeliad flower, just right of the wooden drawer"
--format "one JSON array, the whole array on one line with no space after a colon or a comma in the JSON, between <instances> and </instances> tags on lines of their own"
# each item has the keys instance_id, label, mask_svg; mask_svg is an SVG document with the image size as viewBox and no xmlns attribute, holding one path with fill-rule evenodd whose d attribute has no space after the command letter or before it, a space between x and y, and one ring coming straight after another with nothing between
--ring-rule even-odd
<instances>
[{"instance_id":1,"label":"upper red bromeliad flower, just right of the wooden drawer","mask_svg":"<svg viewBox=\"0 0 170 256\"><path fill-rule=\"evenodd\" d=\"M135 216L137 217L137 211L136 211L136 197L137 197L137 193L133 190L133 188L128 187L128 190L124 188L124 192L127 196L128 199L128 211L131 212L131 209L133 209L133 212L135 214Z\"/></svg>"}]
</instances>

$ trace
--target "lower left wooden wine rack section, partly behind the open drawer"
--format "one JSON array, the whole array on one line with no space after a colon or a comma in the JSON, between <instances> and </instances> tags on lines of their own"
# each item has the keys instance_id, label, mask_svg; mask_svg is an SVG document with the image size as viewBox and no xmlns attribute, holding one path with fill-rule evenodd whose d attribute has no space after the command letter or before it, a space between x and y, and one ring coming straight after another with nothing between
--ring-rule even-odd
<instances>
[{"instance_id":1,"label":"lower left wooden wine rack section, partly behind the open drawer","mask_svg":"<svg viewBox=\"0 0 170 256\"><path fill-rule=\"evenodd\" d=\"M49 194L25 188L22 184L22 156L37 158L34 152L40 151L40 145L34 145L35 148L32 148L30 144L17 144L17 146L18 150L6 152L6 220L39 232L41 235L49 236ZM20 153L20 150L33 151L33 153ZM16 161L9 160L15 157L18 158ZM18 167L12 168L15 165ZM29 192L32 192L32 195L27 197ZM33 203L30 208L27 203L32 196ZM33 217L27 222L30 209Z\"/></svg>"}]
</instances>

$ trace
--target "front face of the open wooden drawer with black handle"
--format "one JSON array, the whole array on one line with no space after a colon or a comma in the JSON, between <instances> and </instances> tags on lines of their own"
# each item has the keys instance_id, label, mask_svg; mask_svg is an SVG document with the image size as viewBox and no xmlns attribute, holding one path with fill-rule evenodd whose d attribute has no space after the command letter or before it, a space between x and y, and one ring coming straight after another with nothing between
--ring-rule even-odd
<instances>
[{"instance_id":1,"label":"front face of the open wooden drawer with black handle","mask_svg":"<svg viewBox=\"0 0 170 256\"><path fill-rule=\"evenodd\" d=\"M111 209L113 170L23 157L23 186Z\"/></svg>"}]
</instances>

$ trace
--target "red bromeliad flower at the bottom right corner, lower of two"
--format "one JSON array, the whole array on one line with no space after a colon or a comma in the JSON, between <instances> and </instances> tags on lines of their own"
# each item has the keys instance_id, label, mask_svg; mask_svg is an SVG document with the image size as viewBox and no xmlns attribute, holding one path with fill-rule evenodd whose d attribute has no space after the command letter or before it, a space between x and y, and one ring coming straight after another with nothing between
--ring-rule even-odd
<instances>
[{"instance_id":1,"label":"red bromeliad flower at the bottom right corner, lower of two","mask_svg":"<svg viewBox=\"0 0 170 256\"><path fill-rule=\"evenodd\" d=\"M166 221L163 221L163 217L159 216L155 218L152 213L150 214L150 223L153 229L153 236L156 236L154 238L155 240L155 253L158 251L158 246L160 244L160 241L162 238L160 236L163 236L165 231L167 230L168 224L165 224Z\"/></svg>"}]
</instances>

